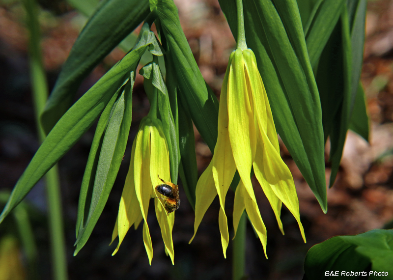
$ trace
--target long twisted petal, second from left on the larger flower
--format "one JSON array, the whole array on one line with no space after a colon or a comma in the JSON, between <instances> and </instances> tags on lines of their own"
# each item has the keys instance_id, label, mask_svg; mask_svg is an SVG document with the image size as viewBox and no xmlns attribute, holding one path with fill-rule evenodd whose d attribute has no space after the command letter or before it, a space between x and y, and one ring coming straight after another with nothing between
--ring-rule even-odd
<instances>
[{"instance_id":1,"label":"long twisted petal, second from left on the larger flower","mask_svg":"<svg viewBox=\"0 0 393 280\"><path fill-rule=\"evenodd\" d=\"M233 54L233 53L232 53ZM231 59L229 59L230 61ZM214 148L212 159L213 178L217 193L220 199L219 225L221 232L221 243L223 245L224 256L229 243L228 222L225 215L225 196L236 172L235 161L233 160L232 148L230 147L228 134L228 109L226 102L227 81L230 67L226 69L223 87L220 95L220 108L218 113L218 139Z\"/></svg>"}]
</instances>

